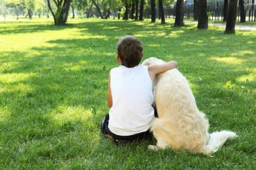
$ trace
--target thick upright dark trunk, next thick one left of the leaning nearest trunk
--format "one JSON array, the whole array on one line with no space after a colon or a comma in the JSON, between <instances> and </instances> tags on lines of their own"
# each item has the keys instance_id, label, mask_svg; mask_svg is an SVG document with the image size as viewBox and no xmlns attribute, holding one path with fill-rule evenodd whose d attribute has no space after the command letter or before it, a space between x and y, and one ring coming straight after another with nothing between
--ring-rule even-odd
<instances>
[{"instance_id":1,"label":"thick upright dark trunk, next thick one left of the leaning nearest trunk","mask_svg":"<svg viewBox=\"0 0 256 170\"><path fill-rule=\"evenodd\" d=\"M198 24L197 28L208 28L207 0L198 0Z\"/></svg>"}]
</instances>

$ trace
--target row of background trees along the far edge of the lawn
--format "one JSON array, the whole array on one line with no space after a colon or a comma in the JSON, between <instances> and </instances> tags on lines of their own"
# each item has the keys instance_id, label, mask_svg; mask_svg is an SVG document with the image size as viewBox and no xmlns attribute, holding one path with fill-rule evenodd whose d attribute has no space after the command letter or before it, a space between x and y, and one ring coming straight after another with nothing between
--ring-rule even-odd
<instances>
[{"instance_id":1,"label":"row of background trees along the far edge of the lawn","mask_svg":"<svg viewBox=\"0 0 256 170\"><path fill-rule=\"evenodd\" d=\"M174 26L183 26L183 18L187 4L193 4L193 18L198 21L197 28L207 29L208 19L211 18L212 8L209 4L219 6L223 1L223 20L226 20L226 33L234 33L237 8L241 15L241 22L245 19L245 0L1 0L5 1L7 7L14 10L17 18L21 13L26 13L32 18L33 13L40 17L44 9L49 9L56 26L65 25L67 17L72 13L72 17L80 15L82 17L100 17L108 19L134 19L143 20L150 17L151 22L156 22L156 17L165 23L168 9L173 8L175 16ZM249 0L248 0L249 1ZM254 0L251 0L254 7ZM208 9L209 8L209 9ZM254 9L251 9L253 11ZM192 11L192 10L191 10ZM47 12L45 12L47 13ZM168 13L168 14L166 14ZM252 15L252 14L251 14ZM216 17L215 17L216 18Z\"/></svg>"}]
</instances>

